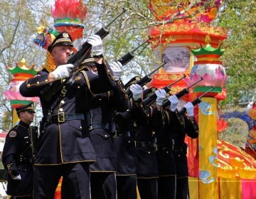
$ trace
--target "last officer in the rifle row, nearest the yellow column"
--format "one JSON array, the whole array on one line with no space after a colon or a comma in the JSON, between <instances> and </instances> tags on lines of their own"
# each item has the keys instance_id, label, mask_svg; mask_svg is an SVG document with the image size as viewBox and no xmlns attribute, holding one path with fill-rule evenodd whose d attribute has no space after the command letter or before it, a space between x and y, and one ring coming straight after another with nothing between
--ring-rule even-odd
<instances>
[{"instance_id":1,"label":"last officer in the rifle row, nearest the yellow column","mask_svg":"<svg viewBox=\"0 0 256 199\"><path fill-rule=\"evenodd\" d=\"M179 115L178 109L174 108L174 104L180 103L176 95L170 97L170 102L173 104L170 108L166 109L169 118L172 121L166 123L166 128L169 129L168 133L171 139L174 140L174 161L176 166L176 198L185 199L189 198L188 191L188 161L185 137L190 136L192 139L198 138L198 124L193 114L193 104L186 103L183 107L186 108L187 114ZM177 103L178 102L178 103ZM177 106L176 106L177 107ZM172 115L172 117L171 117Z\"/></svg>"}]
</instances>

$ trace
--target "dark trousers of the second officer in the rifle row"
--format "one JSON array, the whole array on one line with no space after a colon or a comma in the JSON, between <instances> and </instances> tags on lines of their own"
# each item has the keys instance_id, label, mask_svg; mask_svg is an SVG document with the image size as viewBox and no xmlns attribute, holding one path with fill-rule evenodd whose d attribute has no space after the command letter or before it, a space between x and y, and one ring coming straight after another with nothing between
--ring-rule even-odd
<instances>
[{"instance_id":1,"label":"dark trousers of the second officer in the rifle row","mask_svg":"<svg viewBox=\"0 0 256 199\"><path fill-rule=\"evenodd\" d=\"M92 199L116 199L117 181L114 172L91 172Z\"/></svg>"}]
</instances>

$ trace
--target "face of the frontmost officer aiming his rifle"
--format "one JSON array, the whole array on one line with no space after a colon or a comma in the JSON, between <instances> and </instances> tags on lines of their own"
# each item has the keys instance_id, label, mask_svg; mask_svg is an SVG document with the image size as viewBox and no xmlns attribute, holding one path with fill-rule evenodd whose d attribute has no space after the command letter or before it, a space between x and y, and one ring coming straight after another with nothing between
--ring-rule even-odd
<instances>
[{"instance_id":1,"label":"face of the frontmost officer aiming his rifle","mask_svg":"<svg viewBox=\"0 0 256 199\"><path fill-rule=\"evenodd\" d=\"M68 62L68 58L73 53L73 48L70 45L57 45L53 48L53 59L55 65L63 65Z\"/></svg>"}]
</instances>

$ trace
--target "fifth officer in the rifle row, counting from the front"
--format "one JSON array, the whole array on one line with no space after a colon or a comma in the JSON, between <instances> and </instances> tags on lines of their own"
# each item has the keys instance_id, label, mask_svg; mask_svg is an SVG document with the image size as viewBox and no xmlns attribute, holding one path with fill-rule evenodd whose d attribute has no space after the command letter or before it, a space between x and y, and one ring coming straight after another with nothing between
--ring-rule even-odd
<instances>
[{"instance_id":1,"label":"fifth officer in the rifle row, counting from the front","mask_svg":"<svg viewBox=\"0 0 256 199\"><path fill-rule=\"evenodd\" d=\"M162 92L165 92L162 90ZM172 139L170 127L177 121L175 112L178 106L178 98L175 95L168 97L171 102L171 112L162 111L162 128L156 132L157 151L156 158L159 167L158 195L159 199L176 198L176 165L174 161L174 139Z\"/></svg>"}]
</instances>

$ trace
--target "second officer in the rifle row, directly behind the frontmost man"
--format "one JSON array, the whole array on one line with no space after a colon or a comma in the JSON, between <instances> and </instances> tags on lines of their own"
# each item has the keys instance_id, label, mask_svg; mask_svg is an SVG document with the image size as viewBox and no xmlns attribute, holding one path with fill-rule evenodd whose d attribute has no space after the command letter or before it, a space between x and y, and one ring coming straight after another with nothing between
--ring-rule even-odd
<instances>
[{"instance_id":1,"label":"second officer in the rifle row, directly behind the frontmost man","mask_svg":"<svg viewBox=\"0 0 256 199\"><path fill-rule=\"evenodd\" d=\"M85 66L97 75L94 59L87 59ZM91 197L97 199L117 198L117 159L112 134L112 117L114 112L128 109L128 96L120 79L122 64L110 63L114 75L115 87L112 90L94 95L90 105L90 137L95 149L96 162L90 165Z\"/></svg>"}]
</instances>

